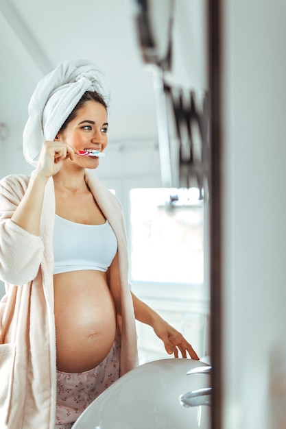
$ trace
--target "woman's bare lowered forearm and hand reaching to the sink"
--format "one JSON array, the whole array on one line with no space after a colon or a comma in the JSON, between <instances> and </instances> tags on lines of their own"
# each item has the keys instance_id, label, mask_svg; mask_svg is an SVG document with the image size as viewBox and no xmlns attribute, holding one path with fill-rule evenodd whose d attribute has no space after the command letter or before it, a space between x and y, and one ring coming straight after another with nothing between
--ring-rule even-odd
<instances>
[{"instance_id":1,"label":"woman's bare lowered forearm and hand reaching to the sink","mask_svg":"<svg viewBox=\"0 0 286 429\"><path fill-rule=\"evenodd\" d=\"M178 358L180 351L183 358L187 358L188 353L192 359L199 360L199 357L195 353L195 350L193 350L193 347L191 347L191 344L184 339L184 336L182 336L180 332L169 325L167 321L162 319L162 317L152 310L152 308L147 306L147 304L137 298L134 293L131 294L135 318L138 321L152 326L155 334L163 341L168 354L174 353L175 358Z\"/></svg>"}]
</instances>

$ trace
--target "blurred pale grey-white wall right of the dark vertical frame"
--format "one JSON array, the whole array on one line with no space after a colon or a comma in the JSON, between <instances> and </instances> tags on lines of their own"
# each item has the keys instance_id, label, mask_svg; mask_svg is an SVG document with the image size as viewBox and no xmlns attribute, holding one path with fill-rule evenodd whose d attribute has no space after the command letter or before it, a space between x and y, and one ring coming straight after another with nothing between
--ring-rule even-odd
<instances>
[{"instance_id":1,"label":"blurred pale grey-white wall right of the dark vertical frame","mask_svg":"<svg viewBox=\"0 0 286 429\"><path fill-rule=\"evenodd\" d=\"M224 4L224 428L286 428L286 3Z\"/></svg>"}]
</instances>

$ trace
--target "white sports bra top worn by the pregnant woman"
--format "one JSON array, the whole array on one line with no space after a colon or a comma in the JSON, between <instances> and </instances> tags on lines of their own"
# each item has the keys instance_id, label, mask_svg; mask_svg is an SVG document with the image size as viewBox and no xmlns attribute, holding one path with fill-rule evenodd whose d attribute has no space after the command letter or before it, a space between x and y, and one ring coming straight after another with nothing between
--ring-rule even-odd
<instances>
[{"instance_id":1,"label":"white sports bra top worn by the pregnant woman","mask_svg":"<svg viewBox=\"0 0 286 429\"><path fill-rule=\"evenodd\" d=\"M53 274L94 269L107 271L117 252L117 238L108 221L85 225L56 215L53 227Z\"/></svg>"}]
</instances>

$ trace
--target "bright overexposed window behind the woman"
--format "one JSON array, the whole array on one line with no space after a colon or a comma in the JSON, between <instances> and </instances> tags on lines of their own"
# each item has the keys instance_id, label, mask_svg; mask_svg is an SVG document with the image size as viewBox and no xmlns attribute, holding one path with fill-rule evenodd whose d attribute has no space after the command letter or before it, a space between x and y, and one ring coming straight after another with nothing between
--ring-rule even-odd
<instances>
[{"instance_id":1,"label":"bright overexposed window behind the woman","mask_svg":"<svg viewBox=\"0 0 286 429\"><path fill-rule=\"evenodd\" d=\"M130 191L131 278L200 284L204 211L197 188Z\"/></svg>"}]
</instances>

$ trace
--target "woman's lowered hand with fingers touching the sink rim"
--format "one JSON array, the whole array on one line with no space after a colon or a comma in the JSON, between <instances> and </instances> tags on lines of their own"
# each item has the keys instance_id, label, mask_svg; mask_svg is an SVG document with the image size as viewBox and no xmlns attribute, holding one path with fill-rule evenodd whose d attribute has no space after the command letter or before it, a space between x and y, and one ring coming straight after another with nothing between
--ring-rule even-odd
<instances>
[{"instance_id":1,"label":"woman's lowered hand with fingers touching the sink rim","mask_svg":"<svg viewBox=\"0 0 286 429\"><path fill-rule=\"evenodd\" d=\"M153 325L153 329L158 338L163 341L168 354L174 353L174 357L178 358L180 352L182 358L187 358L187 354L189 354L192 359L200 359L184 336L164 319L158 317Z\"/></svg>"}]
</instances>

